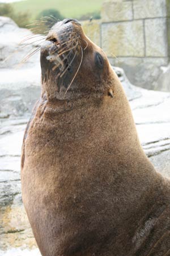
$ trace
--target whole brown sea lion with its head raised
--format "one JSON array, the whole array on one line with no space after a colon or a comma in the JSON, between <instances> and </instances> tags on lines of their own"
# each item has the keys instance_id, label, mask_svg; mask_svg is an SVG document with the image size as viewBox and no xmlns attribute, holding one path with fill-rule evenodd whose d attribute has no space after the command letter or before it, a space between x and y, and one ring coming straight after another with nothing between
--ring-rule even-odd
<instances>
[{"instance_id":1,"label":"whole brown sea lion with its head raised","mask_svg":"<svg viewBox=\"0 0 170 256\"><path fill-rule=\"evenodd\" d=\"M65 19L42 44L41 70L22 196L42 256L170 255L170 181L143 152L105 53Z\"/></svg>"}]
</instances>

